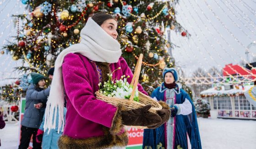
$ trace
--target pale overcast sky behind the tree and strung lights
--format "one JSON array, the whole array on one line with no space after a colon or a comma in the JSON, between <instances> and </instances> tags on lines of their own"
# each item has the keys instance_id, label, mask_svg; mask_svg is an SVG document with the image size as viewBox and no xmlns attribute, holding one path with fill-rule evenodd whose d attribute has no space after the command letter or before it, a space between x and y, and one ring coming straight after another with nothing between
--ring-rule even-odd
<instances>
[{"instance_id":1,"label":"pale overcast sky behind the tree and strung lights","mask_svg":"<svg viewBox=\"0 0 256 149\"><path fill-rule=\"evenodd\" d=\"M0 1L0 44L16 35L12 14L21 14L21 0ZM198 67L219 69L225 64L246 61L246 47L256 41L256 0L180 0L176 5L177 21L191 34L189 38L171 31L172 49L177 65L191 76ZM250 59L256 57L251 46ZM0 55L0 80L15 76L11 67L20 64L10 55Z\"/></svg>"}]
</instances>

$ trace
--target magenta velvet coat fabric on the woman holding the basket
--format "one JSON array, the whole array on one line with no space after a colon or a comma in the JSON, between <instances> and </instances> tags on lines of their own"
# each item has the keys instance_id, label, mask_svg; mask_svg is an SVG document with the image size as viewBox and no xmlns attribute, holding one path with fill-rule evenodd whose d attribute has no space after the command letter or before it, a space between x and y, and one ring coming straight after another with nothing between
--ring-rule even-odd
<instances>
[{"instance_id":1,"label":"magenta velvet coat fabric on the woman holding the basket","mask_svg":"<svg viewBox=\"0 0 256 149\"><path fill-rule=\"evenodd\" d=\"M117 63L110 64L111 71L118 69L113 78L133 73L126 61L120 57ZM62 64L64 89L67 100L64 135L70 138L91 138L104 136L102 125L111 128L117 107L97 100L95 92L99 89L99 78L95 64L79 53L69 53ZM139 91L148 95L138 84Z\"/></svg>"}]
</instances>

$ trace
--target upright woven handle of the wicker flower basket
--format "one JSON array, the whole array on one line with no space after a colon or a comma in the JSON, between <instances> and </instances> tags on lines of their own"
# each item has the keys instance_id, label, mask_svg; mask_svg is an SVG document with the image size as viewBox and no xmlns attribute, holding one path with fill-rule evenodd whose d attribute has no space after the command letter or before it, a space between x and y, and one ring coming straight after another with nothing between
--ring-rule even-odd
<instances>
[{"instance_id":1,"label":"upright woven handle of the wicker flower basket","mask_svg":"<svg viewBox=\"0 0 256 149\"><path fill-rule=\"evenodd\" d=\"M133 79L131 84L133 85L133 91L130 96L130 101L133 101L133 97L135 94L135 90L137 89L138 81L139 81L139 74L140 74L140 69L141 69L141 64L142 64L142 59L143 59L143 54L139 54L139 59L137 61L134 73L133 73Z\"/></svg>"}]
</instances>

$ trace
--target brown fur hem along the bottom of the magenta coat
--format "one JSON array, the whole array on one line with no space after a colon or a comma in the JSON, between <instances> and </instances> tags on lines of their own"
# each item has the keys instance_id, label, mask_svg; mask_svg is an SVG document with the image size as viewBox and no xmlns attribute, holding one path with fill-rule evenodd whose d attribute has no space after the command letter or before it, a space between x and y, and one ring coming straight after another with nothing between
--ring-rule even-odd
<instances>
[{"instance_id":1,"label":"brown fur hem along the bottom of the magenta coat","mask_svg":"<svg viewBox=\"0 0 256 149\"><path fill-rule=\"evenodd\" d=\"M59 149L107 149L114 146L126 146L128 144L128 134L112 135L109 128L104 127L104 136L85 139L69 138L61 136L59 138Z\"/></svg>"}]
</instances>

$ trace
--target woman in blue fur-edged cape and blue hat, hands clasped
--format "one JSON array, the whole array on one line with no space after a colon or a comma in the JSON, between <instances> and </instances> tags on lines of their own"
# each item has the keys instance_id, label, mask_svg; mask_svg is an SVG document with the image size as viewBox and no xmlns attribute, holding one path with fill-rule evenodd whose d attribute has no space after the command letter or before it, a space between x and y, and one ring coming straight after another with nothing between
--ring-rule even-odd
<instances>
[{"instance_id":1,"label":"woman in blue fur-edged cape and blue hat, hands clasped","mask_svg":"<svg viewBox=\"0 0 256 149\"><path fill-rule=\"evenodd\" d=\"M176 69L165 68L163 78L151 97L166 102L171 117L158 128L144 129L143 149L188 149L187 135L192 149L202 149L195 107L189 95L176 84Z\"/></svg>"}]
</instances>

